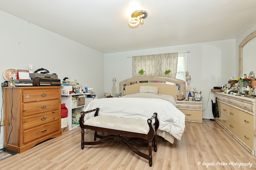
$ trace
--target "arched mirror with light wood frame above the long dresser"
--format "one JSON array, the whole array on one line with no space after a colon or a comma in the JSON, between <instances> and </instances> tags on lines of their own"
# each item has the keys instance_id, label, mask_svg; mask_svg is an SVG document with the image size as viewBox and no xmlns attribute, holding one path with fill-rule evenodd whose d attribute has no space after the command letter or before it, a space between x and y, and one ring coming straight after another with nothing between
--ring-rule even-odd
<instances>
[{"instance_id":1,"label":"arched mirror with light wood frame above the long dresser","mask_svg":"<svg viewBox=\"0 0 256 170\"><path fill-rule=\"evenodd\" d=\"M239 45L238 77L256 73L256 31L248 35Z\"/></svg>"}]
</instances>

